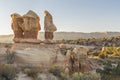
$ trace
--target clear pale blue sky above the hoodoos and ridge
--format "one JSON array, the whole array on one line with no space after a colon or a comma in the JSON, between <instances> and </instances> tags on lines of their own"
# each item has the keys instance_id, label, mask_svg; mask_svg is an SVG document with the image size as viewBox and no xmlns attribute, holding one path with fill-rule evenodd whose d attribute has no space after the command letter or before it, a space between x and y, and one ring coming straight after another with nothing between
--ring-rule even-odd
<instances>
[{"instance_id":1,"label":"clear pale blue sky above the hoodoos and ridge","mask_svg":"<svg viewBox=\"0 0 120 80\"><path fill-rule=\"evenodd\" d=\"M12 13L28 10L40 16L43 31L44 10L54 19L58 31L120 31L120 0L0 0L0 35L12 34Z\"/></svg>"}]
</instances>

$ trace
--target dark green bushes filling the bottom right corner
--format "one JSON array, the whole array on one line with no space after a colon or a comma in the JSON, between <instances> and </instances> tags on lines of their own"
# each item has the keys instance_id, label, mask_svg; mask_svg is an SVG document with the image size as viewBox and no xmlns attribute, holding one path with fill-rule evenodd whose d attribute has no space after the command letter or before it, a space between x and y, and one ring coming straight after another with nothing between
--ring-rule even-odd
<instances>
[{"instance_id":1,"label":"dark green bushes filling the bottom right corner","mask_svg":"<svg viewBox=\"0 0 120 80\"><path fill-rule=\"evenodd\" d=\"M113 65L111 61L107 61L104 63L103 70L97 69L96 72L100 73L102 80L119 80L120 62Z\"/></svg>"}]
</instances>

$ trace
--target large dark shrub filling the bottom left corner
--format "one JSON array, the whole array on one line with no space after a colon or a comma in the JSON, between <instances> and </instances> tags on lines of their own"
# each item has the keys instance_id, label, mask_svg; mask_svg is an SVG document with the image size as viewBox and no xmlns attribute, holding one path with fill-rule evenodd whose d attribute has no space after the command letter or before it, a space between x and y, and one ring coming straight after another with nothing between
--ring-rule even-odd
<instances>
[{"instance_id":1,"label":"large dark shrub filling the bottom left corner","mask_svg":"<svg viewBox=\"0 0 120 80\"><path fill-rule=\"evenodd\" d=\"M15 80L18 70L9 64L0 64L0 80Z\"/></svg>"}]
</instances>

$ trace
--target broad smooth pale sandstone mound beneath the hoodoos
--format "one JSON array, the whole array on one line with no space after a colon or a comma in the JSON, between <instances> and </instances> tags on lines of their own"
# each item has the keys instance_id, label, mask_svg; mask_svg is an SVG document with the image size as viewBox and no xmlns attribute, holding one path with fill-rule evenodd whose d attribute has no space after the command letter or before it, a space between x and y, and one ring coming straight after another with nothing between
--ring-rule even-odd
<instances>
[{"instance_id":1,"label":"broad smooth pale sandstone mound beneath the hoodoos","mask_svg":"<svg viewBox=\"0 0 120 80\"><path fill-rule=\"evenodd\" d=\"M53 65L63 66L64 55L56 53L55 45L39 45L39 44L27 44L27 43L15 43L13 45L13 51L15 54L15 63L41 66L47 68ZM59 49L59 48L58 48Z\"/></svg>"}]
</instances>

